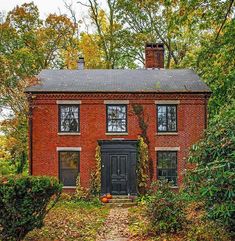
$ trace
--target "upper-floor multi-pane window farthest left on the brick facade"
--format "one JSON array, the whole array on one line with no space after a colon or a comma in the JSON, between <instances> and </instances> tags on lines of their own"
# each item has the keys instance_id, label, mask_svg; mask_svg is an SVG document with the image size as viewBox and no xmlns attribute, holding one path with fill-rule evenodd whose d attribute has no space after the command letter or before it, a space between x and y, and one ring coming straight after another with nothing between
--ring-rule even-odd
<instances>
[{"instance_id":1,"label":"upper-floor multi-pane window farthest left on the brick facade","mask_svg":"<svg viewBox=\"0 0 235 241\"><path fill-rule=\"evenodd\" d=\"M59 131L79 132L79 105L59 106Z\"/></svg>"}]
</instances>

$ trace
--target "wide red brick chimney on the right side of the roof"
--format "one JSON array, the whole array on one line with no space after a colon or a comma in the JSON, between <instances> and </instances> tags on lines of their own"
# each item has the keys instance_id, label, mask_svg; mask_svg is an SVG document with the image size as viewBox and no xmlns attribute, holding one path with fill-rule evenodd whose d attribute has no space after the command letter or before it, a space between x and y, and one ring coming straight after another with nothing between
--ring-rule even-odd
<instances>
[{"instance_id":1,"label":"wide red brick chimney on the right side of the roof","mask_svg":"<svg viewBox=\"0 0 235 241\"><path fill-rule=\"evenodd\" d=\"M146 43L145 68L164 68L164 45L162 43Z\"/></svg>"}]
</instances>

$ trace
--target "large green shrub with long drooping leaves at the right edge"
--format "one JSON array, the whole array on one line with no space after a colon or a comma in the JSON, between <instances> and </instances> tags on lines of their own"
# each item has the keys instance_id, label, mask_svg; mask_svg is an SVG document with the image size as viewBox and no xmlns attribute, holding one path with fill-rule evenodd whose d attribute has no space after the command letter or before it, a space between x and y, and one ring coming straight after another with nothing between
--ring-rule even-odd
<instances>
[{"instance_id":1,"label":"large green shrub with long drooping leaves at the right edge","mask_svg":"<svg viewBox=\"0 0 235 241\"><path fill-rule=\"evenodd\" d=\"M205 203L207 216L235 231L235 101L215 116L193 146L186 190Z\"/></svg>"}]
</instances>

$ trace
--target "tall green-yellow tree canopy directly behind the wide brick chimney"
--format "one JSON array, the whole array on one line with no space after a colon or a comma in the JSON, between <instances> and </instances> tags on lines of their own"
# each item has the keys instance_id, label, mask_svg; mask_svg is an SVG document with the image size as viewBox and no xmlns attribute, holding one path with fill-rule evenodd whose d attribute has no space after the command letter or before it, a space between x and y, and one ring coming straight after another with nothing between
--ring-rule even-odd
<instances>
[{"instance_id":1,"label":"tall green-yellow tree canopy directly behind the wide brick chimney","mask_svg":"<svg viewBox=\"0 0 235 241\"><path fill-rule=\"evenodd\" d=\"M231 2L118 0L118 18L129 33L128 53L144 64L144 44L162 42L166 68L188 67L184 58L195 60L193 53L201 41L218 35L224 20L232 15Z\"/></svg>"}]
</instances>

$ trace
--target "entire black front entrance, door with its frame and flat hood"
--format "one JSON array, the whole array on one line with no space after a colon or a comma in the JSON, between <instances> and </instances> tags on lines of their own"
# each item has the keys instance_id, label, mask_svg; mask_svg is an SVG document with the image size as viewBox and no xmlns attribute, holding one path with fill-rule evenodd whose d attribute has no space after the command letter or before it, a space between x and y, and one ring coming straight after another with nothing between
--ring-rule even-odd
<instances>
[{"instance_id":1,"label":"entire black front entrance, door with its frame and flat hood","mask_svg":"<svg viewBox=\"0 0 235 241\"><path fill-rule=\"evenodd\" d=\"M137 141L100 140L101 194L137 195Z\"/></svg>"}]
</instances>

